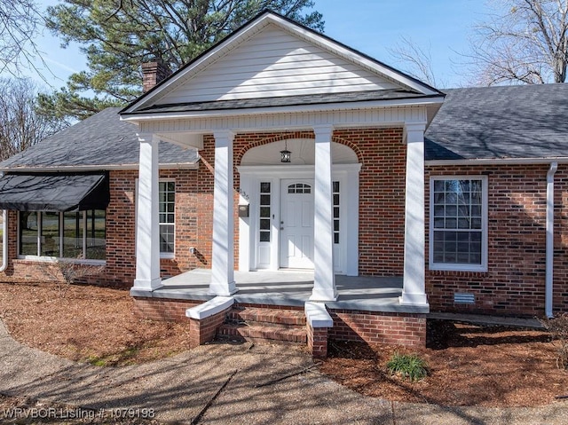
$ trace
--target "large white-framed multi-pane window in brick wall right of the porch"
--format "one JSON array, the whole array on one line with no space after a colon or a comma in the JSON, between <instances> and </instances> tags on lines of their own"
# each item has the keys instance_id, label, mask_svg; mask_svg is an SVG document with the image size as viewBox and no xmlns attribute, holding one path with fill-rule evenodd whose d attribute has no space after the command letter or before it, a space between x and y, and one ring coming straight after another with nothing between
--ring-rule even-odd
<instances>
[{"instance_id":1,"label":"large white-framed multi-pane window in brick wall right of the porch","mask_svg":"<svg viewBox=\"0 0 568 425\"><path fill-rule=\"evenodd\" d=\"M430 179L430 269L487 270L487 177Z\"/></svg>"}]
</instances>

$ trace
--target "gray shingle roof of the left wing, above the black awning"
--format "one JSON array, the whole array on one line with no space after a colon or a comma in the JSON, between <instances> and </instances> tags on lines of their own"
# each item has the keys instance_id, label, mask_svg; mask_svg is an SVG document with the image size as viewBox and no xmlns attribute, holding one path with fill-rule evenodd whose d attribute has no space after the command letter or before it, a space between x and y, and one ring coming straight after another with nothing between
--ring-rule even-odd
<instances>
[{"instance_id":1,"label":"gray shingle roof of the left wing, above the black awning","mask_svg":"<svg viewBox=\"0 0 568 425\"><path fill-rule=\"evenodd\" d=\"M109 107L59 131L24 152L0 162L0 169L51 167L122 167L138 164L137 126L120 121L119 107ZM161 164L195 163L197 151L170 143L159 146Z\"/></svg>"}]
</instances>

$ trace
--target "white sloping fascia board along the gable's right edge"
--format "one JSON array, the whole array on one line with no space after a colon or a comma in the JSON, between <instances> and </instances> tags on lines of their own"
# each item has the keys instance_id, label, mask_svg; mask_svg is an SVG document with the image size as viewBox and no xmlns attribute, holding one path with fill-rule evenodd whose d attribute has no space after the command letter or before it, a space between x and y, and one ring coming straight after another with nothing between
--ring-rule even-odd
<instances>
[{"instance_id":1,"label":"white sloping fascia board along the gable's right edge","mask_svg":"<svg viewBox=\"0 0 568 425\"><path fill-rule=\"evenodd\" d=\"M408 75L404 75L401 72L391 69L390 67L383 66L375 60L367 59L366 57L361 56L361 54L359 54L358 52L352 51L339 42L335 42L334 40L331 40L317 33L312 33L312 31L309 31L306 28L300 26L296 26L291 22L288 22L288 20L282 20L279 16L270 15L268 16L268 18L271 19L272 22L279 25L280 28L288 29L289 32L296 33L296 35L300 35L304 39L312 41L312 43L318 43L328 51L333 51L336 54L342 56L344 59L348 59L360 66L367 67L367 69L373 70L379 75L386 76L390 81L393 81L394 83L403 84L406 87L414 89L415 91L420 91L425 95L440 94L439 91L432 90L429 86L419 83L413 78L410 78Z\"/></svg>"}]
</instances>

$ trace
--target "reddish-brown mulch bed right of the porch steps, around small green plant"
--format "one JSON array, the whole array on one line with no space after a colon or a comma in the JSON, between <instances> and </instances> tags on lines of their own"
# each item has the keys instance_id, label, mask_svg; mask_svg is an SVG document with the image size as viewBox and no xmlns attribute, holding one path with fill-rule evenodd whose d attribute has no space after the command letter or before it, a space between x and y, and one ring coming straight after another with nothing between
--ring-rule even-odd
<instances>
[{"instance_id":1,"label":"reddish-brown mulch bed right of the porch steps, around small green plant","mask_svg":"<svg viewBox=\"0 0 568 425\"><path fill-rule=\"evenodd\" d=\"M429 320L422 350L362 342L332 342L321 372L370 397L438 405L536 406L568 394L568 371L556 367L556 347L540 330L482 327ZM430 375L420 382L391 376L395 352L417 353Z\"/></svg>"}]
</instances>

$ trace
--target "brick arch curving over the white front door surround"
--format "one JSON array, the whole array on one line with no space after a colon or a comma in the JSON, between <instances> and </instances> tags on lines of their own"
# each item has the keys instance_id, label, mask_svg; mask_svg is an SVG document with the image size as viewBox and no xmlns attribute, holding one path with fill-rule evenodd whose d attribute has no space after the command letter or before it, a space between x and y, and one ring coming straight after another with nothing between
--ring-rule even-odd
<instances>
[{"instance_id":1,"label":"brick arch curving over the white front door surround","mask_svg":"<svg viewBox=\"0 0 568 425\"><path fill-rule=\"evenodd\" d=\"M242 157L244 156L244 154L247 153L250 149L253 149L255 147L269 145L274 142L280 142L292 139L302 139L302 138L314 139L315 135L312 131L291 131L286 133L275 133L275 134L267 134L267 133L239 134L234 139L233 163L235 167L241 165ZM359 150L359 146L352 143L350 140L335 136L334 134L332 136L332 142L351 148L351 150L357 155L358 162L361 164L364 163L363 154Z\"/></svg>"}]
</instances>

